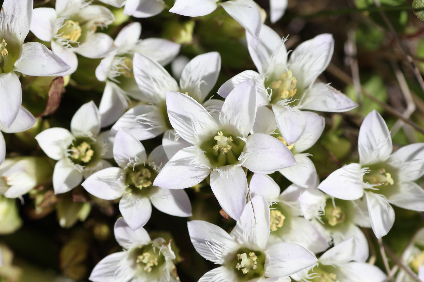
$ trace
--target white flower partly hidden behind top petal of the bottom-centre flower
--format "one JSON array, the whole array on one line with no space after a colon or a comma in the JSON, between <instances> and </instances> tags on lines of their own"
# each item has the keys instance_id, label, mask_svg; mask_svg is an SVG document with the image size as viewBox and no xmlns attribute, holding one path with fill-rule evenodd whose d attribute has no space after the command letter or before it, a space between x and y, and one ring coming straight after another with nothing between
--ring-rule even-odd
<instances>
[{"instance_id":1,"label":"white flower partly hidden behind top petal of the bottom-centre flower","mask_svg":"<svg viewBox=\"0 0 424 282\"><path fill-rule=\"evenodd\" d=\"M265 174L254 174L249 188L252 197L262 195L270 205L271 233L268 245L285 241L299 244L314 253L328 248L327 239L320 230L301 217L298 202L301 188L291 185L280 194L280 187Z\"/></svg>"}]
</instances>

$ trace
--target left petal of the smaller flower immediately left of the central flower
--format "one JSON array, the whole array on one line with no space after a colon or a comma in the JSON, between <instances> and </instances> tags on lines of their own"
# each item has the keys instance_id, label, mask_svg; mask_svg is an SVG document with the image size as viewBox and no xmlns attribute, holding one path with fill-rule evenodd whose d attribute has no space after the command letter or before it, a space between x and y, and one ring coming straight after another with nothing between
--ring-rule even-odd
<instances>
[{"instance_id":1,"label":"left petal of the smaller flower immediately left of the central flower","mask_svg":"<svg viewBox=\"0 0 424 282\"><path fill-rule=\"evenodd\" d=\"M82 187L90 194L105 200L118 199L125 189L125 171L118 167L102 169L92 174Z\"/></svg>"}]
</instances>

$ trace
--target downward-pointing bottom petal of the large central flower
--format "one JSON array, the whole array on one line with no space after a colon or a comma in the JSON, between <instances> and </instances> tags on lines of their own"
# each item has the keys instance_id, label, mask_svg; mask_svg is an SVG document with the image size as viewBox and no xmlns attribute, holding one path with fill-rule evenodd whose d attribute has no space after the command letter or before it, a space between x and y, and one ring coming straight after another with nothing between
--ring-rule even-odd
<instances>
[{"instance_id":1,"label":"downward-pointing bottom petal of the large central flower","mask_svg":"<svg viewBox=\"0 0 424 282\"><path fill-rule=\"evenodd\" d=\"M238 219L246 204L247 179L240 166L212 171L210 185L222 209L234 219Z\"/></svg>"}]
</instances>

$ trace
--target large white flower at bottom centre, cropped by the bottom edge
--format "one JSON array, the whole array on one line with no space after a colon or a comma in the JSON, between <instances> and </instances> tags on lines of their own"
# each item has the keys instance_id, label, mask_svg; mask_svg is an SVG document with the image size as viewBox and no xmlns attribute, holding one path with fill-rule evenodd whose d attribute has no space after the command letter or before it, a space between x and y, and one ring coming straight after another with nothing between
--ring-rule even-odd
<instances>
[{"instance_id":1,"label":"large white flower at bottom centre, cropped by the bottom edge","mask_svg":"<svg viewBox=\"0 0 424 282\"><path fill-rule=\"evenodd\" d=\"M222 265L208 271L199 282L265 281L265 277L277 281L317 262L311 252L297 244L282 242L267 247L270 234L268 203L262 196L256 196L252 204L254 212L250 202L245 205L230 234L206 221L188 222L196 251L205 259Z\"/></svg>"}]
</instances>

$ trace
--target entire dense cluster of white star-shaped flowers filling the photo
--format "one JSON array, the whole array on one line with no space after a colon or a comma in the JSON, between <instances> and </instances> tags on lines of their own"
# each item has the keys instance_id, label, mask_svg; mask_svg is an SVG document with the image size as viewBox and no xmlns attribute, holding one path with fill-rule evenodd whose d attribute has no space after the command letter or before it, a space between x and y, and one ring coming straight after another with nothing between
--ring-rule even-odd
<instances>
[{"instance_id":1,"label":"entire dense cluster of white star-shaped flowers filling the photo","mask_svg":"<svg viewBox=\"0 0 424 282\"><path fill-rule=\"evenodd\" d=\"M22 224L11 199L33 202L33 219L57 210L61 227L84 221L92 240L106 241L104 222L118 218L113 232L121 248L93 254L91 268L91 239L67 234L61 268L75 280L185 281L178 264L195 251L216 264L201 268L200 282L393 278L374 265L373 246L368 260L369 244L384 251L393 206L424 212L424 143L393 152L388 126L373 110L360 121L359 160L318 173L312 152L329 117L358 106L322 75L335 48L331 34L287 51L288 37L264 24L266 12L254 0L50 4L5 0L0 11L0 130L7 133L0 132L1 232ZM287 1L270 0L269 7L275 23ZM175 38L140 39L137 18L170 17L167 10L241 26L239 40L256 71L222 76L228 58L215 50L184 49L191 59L177 58L187 46L176 30ZM25 42L30 31L36 42ZM97 96L62 96L84 87ZM42 102L25 94L34 89L46 100L42 113L31 101ZM72 118L60 115L68 108ZM13 153L11 133L28 150ZM183 228L171 228L180 221ZM397 281L423 279L423 238L421 229L403 252ZM81 269L91 274L78 276Z\"/></svg>"}]
</instances>

